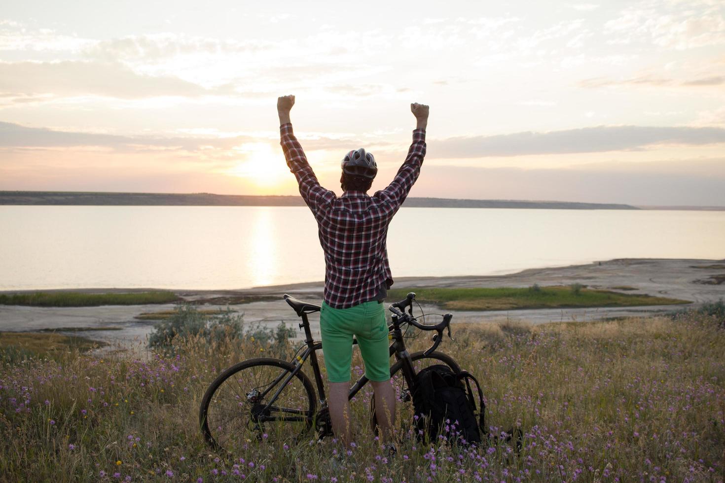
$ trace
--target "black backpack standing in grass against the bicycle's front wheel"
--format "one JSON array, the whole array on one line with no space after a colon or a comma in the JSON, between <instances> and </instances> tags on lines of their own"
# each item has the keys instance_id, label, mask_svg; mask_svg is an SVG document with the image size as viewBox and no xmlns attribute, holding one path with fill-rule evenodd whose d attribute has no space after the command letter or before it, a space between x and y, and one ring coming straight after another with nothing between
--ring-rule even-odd
<instances>
[{"instance_id":1,"label":"black backpack standing in grass against the bicycle's front wheel","mask_svg":"<svg viewBox=\"0 0 725 483\"><path fill-rule=\"evenodd\" d=\"M471 381L478 390L478 406ZM486 435L484 394L468 371L455 373L442 364L422 369L413 384L413 408L418 437L428 442L443 435L448 442L480 445Z\"/></svg>"}]
</instances>

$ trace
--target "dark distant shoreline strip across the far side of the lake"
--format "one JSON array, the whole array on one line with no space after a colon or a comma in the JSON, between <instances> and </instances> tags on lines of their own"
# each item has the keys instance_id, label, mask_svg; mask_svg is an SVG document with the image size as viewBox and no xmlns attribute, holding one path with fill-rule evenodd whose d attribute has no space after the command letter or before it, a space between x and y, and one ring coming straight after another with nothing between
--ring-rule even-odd
<instances>
[{"instance_id":1,"label":"dark distant shoreline strip across the far side of the lake","mask_svg":"<svg viewBox=\"0 0 725 483\"><path fill-rule=\"evenodd\" d=\"M215 195L213 193L106 193L83 191L0 191L0 205L43 206L305 206L299 196ZM621 203L415 198L407 208L640 209ZM725 208L724 208L725 209Z\"/></svg>"}]
</instances>

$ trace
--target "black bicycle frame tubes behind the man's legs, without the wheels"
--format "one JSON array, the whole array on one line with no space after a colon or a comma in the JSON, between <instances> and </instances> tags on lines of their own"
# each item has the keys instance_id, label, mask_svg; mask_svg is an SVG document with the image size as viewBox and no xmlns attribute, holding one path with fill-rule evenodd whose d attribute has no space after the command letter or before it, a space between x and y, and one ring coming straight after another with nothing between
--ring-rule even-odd
<instances>
[{"instance_id":1,"label":"black bicycle frame tubes behind the man's legs, without the wheels","mask_svg":"<svg viewBox=\"0 0 725 483\"><path fill-rule=\"evenodd\" d=\"M312 330L310 329L310 321L307 319L307 314L303 313L301 315L302 317L302 324L299 324L299 327L302 329L305 329L305 344L307 345L307 348L302 352L301 355L297 356L297 360L294 361L294 370L291 372L283 371L273 382L270 382L268 385L269 388L261 393L262 398L264 398L268 392L277 385L278 382L281 382L284 378L283 383L278 387L272 398L270 398L269 403L265 406L264 410L268 410L272 404L277 400L278 396L284 389L284 387L291 381L295 375L302 370L302 366L305 365L305 362L307 361L307 358L310 358L310 364L312 365L312 372L315 374L315 385L317 385L318 390L318 399L320 402L320 406L322 409L327 407L327 398L325 396L325 386L323 384L322 380L322 374L320 373L320 363L317 358L317 350L322 348L321 342L315 342L315 340L312 338ZM388 337L393 342L390 344L390 356L395 356L396 361L405 361L402 364L402 371L403 376L405 377L405 382L407 383L408 387L412 387L413 385L413 377L415 377L415 370L413 369L413 364L410 361L410 353L408 353L407 349L405 348L405 342L403 340L402 331L400 330L400 326L398 324L398 318L397 316L392 317L392 331L389 327L389 334ZM353 345L356 344L357 341L353 340ZM286 377L285 377L286 375ZM357 379L357 382L355 382L355 385L353 385L350 388L350 392L347 396L348 400L355 397L357 392L359 392L363 386L368 384L368 379L365 377L365 374L363 374L360 379ZM291 413L303 413L303 411L297 411L293 409L286 409L287 412ZM286 419L287 421L299 421L301 419Z\"/></svg>"}]
</instances>

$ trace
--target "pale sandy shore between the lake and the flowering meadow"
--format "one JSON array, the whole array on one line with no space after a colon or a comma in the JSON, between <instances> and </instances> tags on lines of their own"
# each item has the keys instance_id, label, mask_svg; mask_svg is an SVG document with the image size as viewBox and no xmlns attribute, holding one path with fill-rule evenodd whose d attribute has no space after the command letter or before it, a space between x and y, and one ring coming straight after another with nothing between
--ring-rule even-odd
<instances>
[{"instance_id":1,"label":"pale sandy shore between the lake and the flowering meadow","mask_svg":"<svg viewBox=\"0 0 725 483\"><path fill-rule=\"evenodd\" d=\"M619 290L617 287L635 287L626 293L662 295L703 303L725 298L725 283L714 285L709 277L725 274L725 260L688 259L617 259L586 265L563 266L545 269L528 269L508 275L481 277L399 277L396 287L529 287L539 285L569 285L581 283L592 288ZM715 265L715 268L702 268ZM141 289L138 289L141 290ZM150 290L150 289L143 289ZM83 292L128 292L136 290L78 290ZM175 290L188 301L215 296L275 295L278 300L245 303L230 306L244 312L245 323L257 323L274 327L283 321L297 329L297 314L283 301L281 295L289 293L312 303L320 303L323 282L294 285L255 287L247 290ZM214 308L209 306L208 308ZM225 308L226 306L219 306ZM78 332L96 340L128 347L143 343L151 332L154 322L139 321L135 316L142 312L162 311L173 304L146 306L101 307L25 307L0 306L0 331L37 331L56 327L117 327L117 330L91 330ZM426 311L435 307L425 307ZM497 322L516 319L534 324L559 321L592 321L613 316L640 316L665 313L679 306L647 306L623 308L546 308L511 311L457 311L453 322ZM317 317L310 318L313 332L318 332Z\"/></svg>"}]
</instances>

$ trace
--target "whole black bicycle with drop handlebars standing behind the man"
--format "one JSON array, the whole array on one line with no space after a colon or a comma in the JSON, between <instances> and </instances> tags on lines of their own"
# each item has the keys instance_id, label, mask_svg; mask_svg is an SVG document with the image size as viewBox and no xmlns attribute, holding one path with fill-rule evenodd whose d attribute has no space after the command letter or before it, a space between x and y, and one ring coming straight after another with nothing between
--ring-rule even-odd
<instances>
[{"instance_id":1,"label":"whole black bicycle with drop handlebars standing behind the man","mask_svg":"<svg viewBox=\"0 0 725 483\"><path fill-rule=\"evenodd\" d=\"M214 450L229 451L252 441L289 441L297 437L307 437L313 427L319 437L332 434L317 358L317 351L322 348L322 343L312 339L310 322L307 320L307 314L320 311L320 306L299 301L286 294L284 298L302 318L299 328L305 330L305 344L297 350L292 361L276 358L248 359L234 364L214 379L204 394L199 409L199 424L204 439ZM442 342L444 329L448 330L448 337L451 337L452 314L444 314L439 324L421 324L413 317L414 300L415 293L411 292L405 300L389 306L393 314L392 323L388 327L388 337L392 340L390 355L395 357L390 368L397 398L395 419L406 425L413 424L410 388L413 387L415 374L431 364L445 364L452 371L460 371L453 358L436 352ZM424 318L423 320L425 321ZM427 350L408 353L404 335L412 327L436 331L433 345ZM317 386L317 396L310 378L302 371L308 359ZM349 399L354 398L367 383L368 378L365 375L360 377L350 389ZM371 398L370 409L370 422L376 428L374 398Z\"/></svg>"}]
</instances>

